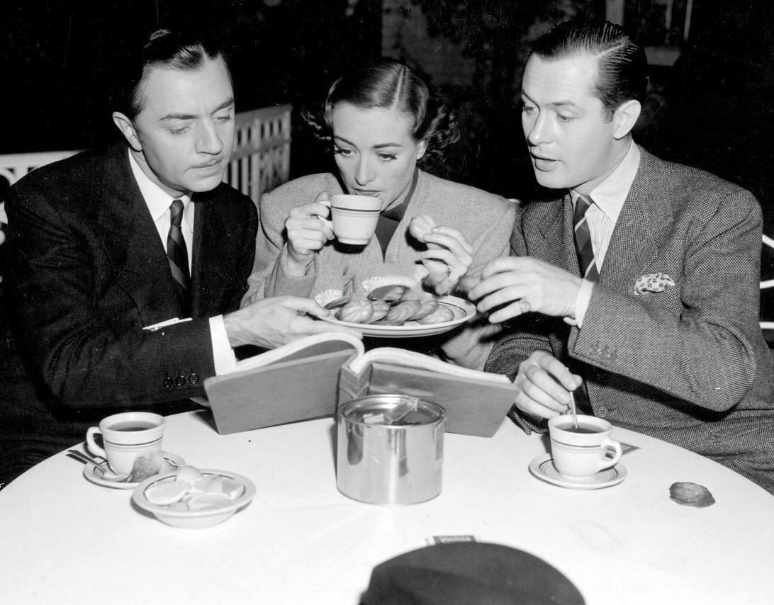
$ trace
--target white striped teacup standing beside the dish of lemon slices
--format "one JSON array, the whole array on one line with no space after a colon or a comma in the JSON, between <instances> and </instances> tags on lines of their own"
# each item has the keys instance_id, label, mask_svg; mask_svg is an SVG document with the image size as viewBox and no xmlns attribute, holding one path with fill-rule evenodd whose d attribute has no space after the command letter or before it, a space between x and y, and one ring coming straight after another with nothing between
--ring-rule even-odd
<instances>
[{"instance_id":1,"label":"white striped teacup standing beside the dish of lemon slices","mask_svg":"<svg viewBox=\"0 0 774 605\"><path fill-rule=\"evenodd\" d=\"M99 426L86 432L87 449L108 460L111 470L118 474L132 472L139 458L152 458L161 453L164 436L164 417L151 412L122 412L104 418ZM101 434L104 448L94 442Z\"/></svg>"}]
</instances>

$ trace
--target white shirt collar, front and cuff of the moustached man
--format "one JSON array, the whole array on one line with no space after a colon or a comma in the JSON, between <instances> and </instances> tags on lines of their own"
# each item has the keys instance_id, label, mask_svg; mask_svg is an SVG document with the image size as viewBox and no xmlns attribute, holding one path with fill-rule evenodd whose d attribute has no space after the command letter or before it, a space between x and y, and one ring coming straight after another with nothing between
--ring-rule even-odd
<instances>
[{"instance_id":1,"label":"white shirt collar, front and cuff of the moustached man","mask_svg":"<svg viewBox=\"0 0 774 605\"><path fill-rule=\"evenodd\" d=\"M183 231L183 239L186 241L186 248L188 251L188 271L190 273L191 268L194 265L194 203L191 201L190 196L172 197L169 193L166 193L161 187L153 183L148 178L146 173L142 172L139 164L132 156L132 152L129 154L129 165L132 166L132 174L135 176L135 181L139 186L140 193L148 206L148 210L153 219L153 223L156 225L156 230L159 232L159 238L161 244L166 251L166 238L170 233L170 206L174 200L183 200L183 220L180 225L181 231ZM224 374L231 370L236 365L236 356L234 350L231 348L231 344L228 342L228 334L226 333L226 326L223 323L223 316L217 315L210 318L210 336L212 340L212 354L215 363L215 373Z\"/></svg>"}]
</instances>

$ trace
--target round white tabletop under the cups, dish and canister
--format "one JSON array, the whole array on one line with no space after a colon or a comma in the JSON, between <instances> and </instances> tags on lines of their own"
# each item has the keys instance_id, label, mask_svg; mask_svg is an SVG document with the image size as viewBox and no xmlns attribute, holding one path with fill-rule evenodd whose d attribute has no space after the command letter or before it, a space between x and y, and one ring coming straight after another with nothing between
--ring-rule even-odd
<instances>
[{"instance_id":1,"label":"round white tabletop under the cups, dish and canister","mask_svg":"<svg viewBox=\"0 0 774 605\"><path fill-rule=\"evenodd\" d=\"M208 412L167 420L166 451L251 478L252 504L212 528L173 528L59 453L0 491L0 601L355 605L375 565L437 535L530 552L589 605L774 599L774 497L635 432L613 430L640 449L622 458L626 479L600 490L533 477L546 437L507 420L491 439L447 434L440 496L387 507L337 490L333 419L225 436ZM704 485L716 503L676 504L675 481Z\"/></svg>"}]
</instances>

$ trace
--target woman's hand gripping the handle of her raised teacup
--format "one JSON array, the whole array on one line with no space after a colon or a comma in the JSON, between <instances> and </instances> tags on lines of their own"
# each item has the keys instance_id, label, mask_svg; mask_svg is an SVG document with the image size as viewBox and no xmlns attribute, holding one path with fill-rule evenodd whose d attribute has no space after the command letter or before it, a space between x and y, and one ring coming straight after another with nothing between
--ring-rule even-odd
<instances>
[{"instance_id":1,"label":"woman's hand gripping the handle of her raised teacup","mask_svg":"<svg viewBox=\"0 0 774 605\"><path fill-rule=\"evenodd\" d=\"M288 240L285 271L288 275L306 275L314 253L333 239L334 231L327 220L330 206L326 204L329 204L328 194L322 191L312 203L290 210L285 221Z\"/></svg>"}]
</instances>

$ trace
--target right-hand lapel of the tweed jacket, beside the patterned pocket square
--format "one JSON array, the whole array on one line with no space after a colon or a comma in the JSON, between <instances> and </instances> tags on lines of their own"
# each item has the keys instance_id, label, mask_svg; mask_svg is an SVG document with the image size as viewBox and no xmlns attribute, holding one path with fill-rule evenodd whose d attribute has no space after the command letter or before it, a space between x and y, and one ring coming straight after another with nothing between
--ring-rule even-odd
<instances>
[{"instance_id":1,"label":"right-hand lapel of the tweed jacket, beside the patterned pocket square","mask_svg":"<svg viewBox=\"0 0 774 605\"><path fill-rule=\"evenodd\" d=\"M599 282L621 292L647 272L659 254L658 242L671 221L670 201L661 191L656 157L640 148L639 169L610 239Z\"/></svg>"}]
</instances>

